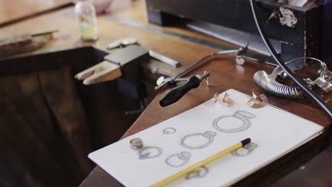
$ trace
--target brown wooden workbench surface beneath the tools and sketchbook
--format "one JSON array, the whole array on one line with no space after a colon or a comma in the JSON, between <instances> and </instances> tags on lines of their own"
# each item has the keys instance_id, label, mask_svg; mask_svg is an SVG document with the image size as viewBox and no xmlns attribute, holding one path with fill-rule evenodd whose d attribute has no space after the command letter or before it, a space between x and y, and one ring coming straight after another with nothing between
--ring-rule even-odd
<instances>
[{"instance_id":1,"label":"brown wooden workbench surface beneath the tools and sketchbook","mask_svg":"<svg viewBox=\"0 0 332 187\"><path fill-rule=\"evenodd\" d=\"M169 74L175 74L176 72L179 72L187 67L189 64L199 60L200 57L215 51L209 47L196 45L191 42L172 38L170 36L158 35L151 33L148 30L142 30L120 23L115 23L110 21L108 18L109 16L119 16L121 18L128 18L133 21L147 23L144 1L133 1L130 6L115 9L113 13L99 16L98 24L100 39L94 43L84 43L79 40L79 36L77 34L77 25L74 20L74 10L73 6L71 6L58 11L46 13L43 16L37 16L26 21L21 21L18 23L13 23L9 26L2 27L0 28L0 38L24 33L38 33L45 30L60 30L56 36L57 40L48 43L48 45L41 50L20 55L25 56L45 52L54 52L58 50L69 50L87 45L92 45L100 50L106 51L105 46L112 40L129 36L135 37L138 38L138 41L144 47L148 47L151 50L155 50L182 62L182 67L178 69L172 69L171 67L167 67L157 62L149 62L146 64L148 69L153 69L152 72L156 72L155 69L157 69L160 72L168 72ZM225 44L225 42L221 42L215 40L214 38L189 30L167 27L163 29L172 30L184 35L194 36L202 40L209 40L212 42ZM187 111L194 106L198 106L200 103L211 98L217 91L221 92L227 89L236 89L238 91L244 92L245 94L250 94L251 91L255 89L257 92L262 92L260 88L255 85L255 82L253 81L253 74L258 70L272 72L272 69L273 67L270 65L249 61L246 62L243 66L237 66L235 63L235 57L232 56L222 56L210 60L209 62L206 62L206 64L201 65L201 67L194 69L194 72L192 72L192 74L198 74L204 70L211 72L210 87L202 84L197 90L190 91L179 102L166 108L161 108L159 106L159 100L167 90L160 91L160 93L157 94L157 96L150 103L148 108L146 108L138 120L133 123L131 128L126 132L125 135L123 135L123 137L133 135L136 132L156 125L163 120L167 120L168 118L172 118L172 116ZM295 113L302 118L311 120L326 128L326 131L321 136L307 144L319 145L319 148L317 148L317 150L312 150L310 154L316 154L319 152L320 148L323 147L323 142L327 138L328 125L330 125L330 119L327 117L327 115L311 101L289 101L272 96L268 97L270 99L270 103L274 104L275 106ZM329 104L331 106L331 102ZM301 154L301 152L299 152L299 154ZM300 163L306 161L308 158L298 157L297 159ZM291 170L294 168L290 167L289 169ZM284 173L281 172L280 174ZM280 178L280 176L277 176L276 179L278 178ZM275 179L271 179L270 181L275 181ZM106 172L99 168L99 166L96 166L92 173L87 176L87 179L82 182L81 186L120 186L120 184L118 184L116 180L109 176L109 174L106 174Z\"/></svg>"}]
</instances>

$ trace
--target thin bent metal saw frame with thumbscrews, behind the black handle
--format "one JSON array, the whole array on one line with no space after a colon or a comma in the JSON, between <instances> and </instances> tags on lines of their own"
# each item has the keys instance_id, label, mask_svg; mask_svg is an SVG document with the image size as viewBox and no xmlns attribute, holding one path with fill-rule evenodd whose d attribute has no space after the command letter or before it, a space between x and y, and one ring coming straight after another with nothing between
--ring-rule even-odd
<instances>
[{"instance_id":1,"label":"thin bent metal saw frame with thumbscrews, behind the black handle","mask_svg":"<svg viewBox=\"0 0 332 187\"><path fill-rule=\"evenodd\" d=\"M207 55L203 58L201 58L201 60L195 62L194 64L192 64L191 66L187 67L187 69L184 69L182 72L180 72L179 74L173 76L173 77L169 77L167 79L165 78L161 78L163 79L163 81L157 81L157 86L155 86L155 89L160 89L162 86L165 86L166 84L170 83L172 84L174 81L176 81L179 77L181 77L182 75L186 74L187 72L189 72L190 70L194 69L194 67L197 67L197 65L201 64L202 62L204 62L205 60L209 59L209 57L213 57L215 55L223 55L223 54L230 54L230 53L234 53L236 54L236 62L238 64L243 64L244 60L242 58L242 55L248 50L248 45L247 44L245 47L240 47L237 50L224 50L224 51L219 51L219 52L215 52L212 53L210 55ZM158 79L158 80L160 80ZM160 83L161 82L161 83ZM158 84L159 83L159 84Z\"/></svg>"}]
</instances>

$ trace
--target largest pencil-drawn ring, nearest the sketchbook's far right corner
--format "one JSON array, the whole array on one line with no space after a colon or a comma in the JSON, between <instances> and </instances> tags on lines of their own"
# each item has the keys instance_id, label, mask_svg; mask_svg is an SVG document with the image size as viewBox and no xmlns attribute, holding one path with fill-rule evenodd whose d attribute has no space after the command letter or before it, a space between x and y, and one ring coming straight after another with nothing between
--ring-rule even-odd
<instances>
[{"instance_id":1,"label":"largest pencil-drawn ring, nearest the sketchbook's far right corner","mask_svg":"<svg viewBox=\"0 0 332 187\"><path fill-rule=\"evenodd\" d=\"M220 132L241 132L243 130L247 130L250 128L251 122L250 119L255 118L256 116L252 113L248 113L246 111L236 111L233 115L221 115L220 117L216 118L213 121L213 126L216 130ZM239 121L229 121L231 119L238 119ZM224 121L224 123L220 123L220 121ZM229 126L229 125L240 125L238 128L221 128L222 125Z\"/></svg>"}]
</instances>

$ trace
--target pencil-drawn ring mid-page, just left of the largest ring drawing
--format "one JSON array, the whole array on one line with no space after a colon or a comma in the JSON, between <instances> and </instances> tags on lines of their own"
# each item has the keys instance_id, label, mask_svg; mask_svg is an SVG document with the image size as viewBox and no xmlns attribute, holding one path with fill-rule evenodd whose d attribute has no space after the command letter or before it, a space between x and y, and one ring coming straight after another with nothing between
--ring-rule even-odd
<instances>
[{"instance_id":1,"label":"pencil-drawn ring mid-page, just left of the largest ring drawing","mask_svg":"<svg viewBox=\"0 0 332 187\"><path fill-rule=\"evenodd\" d=\"M181 145L188 149L202 149L214 142L216 132L193 133L182 137Z\"/></svg>"}]
</instances>

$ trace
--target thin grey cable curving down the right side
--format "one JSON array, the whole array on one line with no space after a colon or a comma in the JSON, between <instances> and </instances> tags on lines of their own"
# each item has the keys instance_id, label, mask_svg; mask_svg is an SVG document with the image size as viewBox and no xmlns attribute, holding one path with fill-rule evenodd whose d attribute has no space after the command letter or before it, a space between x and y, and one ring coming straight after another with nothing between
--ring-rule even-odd
<instances>
[{"instance_id":1,"label":"thin grey cable curving down the right side","mask_svg":"<svg viewBox=\"0 0 332 187\"><path fill-rule=\"evenodd\" d=\"M314 100L319 106L328 113L330 116L330 120L332 118L332 111L331 108L319 97L317 94L314 93L314 91L311 91L304 83L303 81L297 79L295 75L293 74L292 70L287 67L286 64L284 64L284 61L277 55L277 52L275 52L275 49L271 45L270 40L267 38L265 34L265 30L263 30L262 27L262 21L260 18L260 15L257 13L257 3L256 0L250 0L251 10L253 11L253 17L255 18L255 23L258 28L258 31L260 32L260 36L262 37L262 40L264 41L267 49L270 51L272 57L275 59L277 64L284 69L284 72L287 73L287 75L301 88L305 91L308 96L311 97L312 100Z\"/></svg>"}]
</instances>

